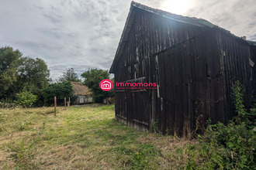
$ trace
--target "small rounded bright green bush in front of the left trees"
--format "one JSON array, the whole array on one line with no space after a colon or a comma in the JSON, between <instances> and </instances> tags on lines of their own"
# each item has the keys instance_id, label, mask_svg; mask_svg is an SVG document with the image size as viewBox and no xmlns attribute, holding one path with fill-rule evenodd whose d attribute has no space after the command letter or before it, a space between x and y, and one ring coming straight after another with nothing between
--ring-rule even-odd
<instances>
[{"instance_id":1,"label":"small rounded bright green bush in front of the left trees","mask_svg":"<svg viewBox=\"0 0 256 170\"><path fill-rule=\"evenodd\" d=\"M31 107L37 100L36 95L28 91L16 93L16 98L17 100L15 100L14 103L22 107Z\"/></svg>"}]
</instances>

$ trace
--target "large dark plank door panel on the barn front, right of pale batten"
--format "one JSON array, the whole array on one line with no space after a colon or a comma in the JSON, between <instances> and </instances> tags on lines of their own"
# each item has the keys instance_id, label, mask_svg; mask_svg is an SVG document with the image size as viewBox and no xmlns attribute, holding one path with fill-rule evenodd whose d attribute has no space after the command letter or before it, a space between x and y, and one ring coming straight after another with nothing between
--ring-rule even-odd
<instances>
[{"instance_id":1,"label":"large dark plank door panel on the barn front, right of pale batten","mask_svg":"<svg viewBox=\"0 0 256 170\"><path fill-rule=\"evenodd\" d=\"M206 30L154 59L160 90L156 120L162 132L199 131L209 117L215 123L224 121L223 76L214 32Z\"/></svg>"}]
</instances>

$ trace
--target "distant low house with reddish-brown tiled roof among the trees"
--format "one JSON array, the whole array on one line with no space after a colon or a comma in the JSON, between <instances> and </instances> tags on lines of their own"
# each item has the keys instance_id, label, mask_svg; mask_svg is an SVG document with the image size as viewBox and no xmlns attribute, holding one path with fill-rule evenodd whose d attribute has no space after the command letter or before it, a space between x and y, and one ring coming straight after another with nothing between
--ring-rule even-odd
<instances>
[{"instance_id":1,"label":"distant low house with reddish-brown tiled roof among the trees","mask_svg":"<svg viewBox=\"0 0 256 170\"><path fill-rule=\"evenodd\" d=\"M83 85L81 82L72 82L74 90L73 95L77 96L76 104L88 104L92 103L92 92L89 88Z\"/></svg>"}]
</instances>

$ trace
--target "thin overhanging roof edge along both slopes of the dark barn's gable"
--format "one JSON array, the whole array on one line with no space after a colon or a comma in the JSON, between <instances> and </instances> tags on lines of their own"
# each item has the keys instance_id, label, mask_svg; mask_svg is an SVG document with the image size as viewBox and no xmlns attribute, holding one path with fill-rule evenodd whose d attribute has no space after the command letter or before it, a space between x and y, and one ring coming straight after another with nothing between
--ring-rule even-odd
<instances>
[{"instance_id":1,"label":"thin overhanging roof edge along both slopes of the dark barn's gable","mask_svg":"<svg viewBox=\"0 0 256 170\"><path fill-rule=\"evenodd\" d=\"M125 24L125 27L123 29L123 33L122 33L122 36L121 36L121 39L120 39L120 42L119 42L119 46L117 47L116 55L115 55L115 58L113 59L112 66L109 70L109 73L114 73L115 72L115 68L116 68L116 65L118 64L119 57L122 55L124 46L125 46L126 42L128 41L129 32L130 32L130 29L133 25L133 20L135 19L135 15L136 15L136 12L134 11L134 9L136 9L136 8L147 11L147 12L154 13L156 15L161 15L162 17L172 19L172 20L175 20L177 22L182 22L182 23L186 23L186 24L189 24L189 25L193 25L193 26L199 26L199 27L220 29L223 32L227 32L230 35L234 36L233 34L230 33L230 31L227 31L226 29L220 28L219 26L216 26L213 23L206 21L205 19L197 19L195 17L187 17L187 16L182 16L182 15L176 15L176 14L173 14L173 13L170 13L170 12L162 11L162 10L157 9L157 8L150 8L146 5L141 5L140 3L137 3L137 2L131 2L130 12L127 16L126 24ZM237 36L235 36L235 37L237 37ZM241 39L240 37L237 37L237 38Z\"/></svg>"}]
</instances>

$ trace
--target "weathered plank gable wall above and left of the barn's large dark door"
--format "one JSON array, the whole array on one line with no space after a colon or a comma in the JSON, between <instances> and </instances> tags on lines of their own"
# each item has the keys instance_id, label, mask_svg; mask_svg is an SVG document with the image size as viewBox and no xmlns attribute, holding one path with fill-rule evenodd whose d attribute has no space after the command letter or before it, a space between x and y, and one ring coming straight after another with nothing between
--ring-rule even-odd
<instances>
[{"instance_id":1,"label":"weathered plank gable wall above and left of the barn's large dark door","mask_svg":"<svg viewBox=\"0 0 256 170\"><path fill-rule=\"evenodd\" d=\"M119 59L115 81L157 82L155 55L192 39L199 32L202 32L199 26L188 27L185 23L138 10ZM157 118L160 101L157 90L116 90L116 119L141 130L156 128L160 122Z\"/></svg>"}]
</instances>

